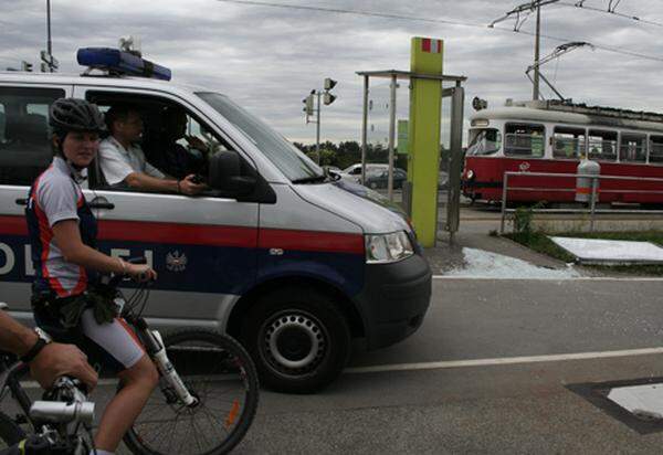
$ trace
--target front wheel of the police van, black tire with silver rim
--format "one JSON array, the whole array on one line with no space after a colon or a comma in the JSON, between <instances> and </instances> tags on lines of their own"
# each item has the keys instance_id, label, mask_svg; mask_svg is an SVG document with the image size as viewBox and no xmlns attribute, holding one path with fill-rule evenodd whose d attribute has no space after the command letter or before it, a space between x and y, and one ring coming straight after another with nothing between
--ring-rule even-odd
<instances>
[{"instance_id":1,"label":"front wheel of the police van, black tire with silver rim","mask_svg":"<svg viewBox=\"0 0 663 455\"><path fill-rule=\"evenodd\" d=\"M261 383L285 393L314 393L334 381L350 355L350 331L334 300L312 288L262 296L249 310L242 341Z\"/></svg>"}]
</instances>

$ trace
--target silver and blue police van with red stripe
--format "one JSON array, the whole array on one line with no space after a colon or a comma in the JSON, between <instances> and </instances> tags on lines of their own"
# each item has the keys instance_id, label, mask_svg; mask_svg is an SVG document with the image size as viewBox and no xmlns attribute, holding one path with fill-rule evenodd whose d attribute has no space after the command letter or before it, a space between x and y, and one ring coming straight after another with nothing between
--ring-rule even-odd
<instances>
[{"instance_id":1,"label":"silver and blue police van with red stripe","mask_svg":"<svg viewBox=\"0 0 663 455\"><path fill-rule=\"evenodd\" d=\"M88 169L84 194L101 250L145 256L159 274L150 324L227 330L265 385L299 393L340 373L352 338L377 349L420 327L431 271L397 208L325 173L221 93L173 84L167 68L116 50L80 50L78 62L90 66L80 76L0 73L0 300L14 316L32 315L24 205L52 159L49 106L77 97L102 112L136 107L150 162L171 133L166 109L185 113L187 131L207 148L209 190L197 197L108 186L98 162Z\"/></svg>"}]
</instances>

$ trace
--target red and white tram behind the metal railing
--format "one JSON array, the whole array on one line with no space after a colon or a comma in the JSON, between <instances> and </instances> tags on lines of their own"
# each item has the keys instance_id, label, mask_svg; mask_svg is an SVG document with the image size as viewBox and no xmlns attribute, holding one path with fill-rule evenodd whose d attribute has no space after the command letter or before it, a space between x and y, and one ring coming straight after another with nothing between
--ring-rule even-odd
<instances>
[{"instance_id":1,"label":"red and white tram behind the metal railing","mask_svg":"<svg viewBox=\"0 0 663 455\"><path fill-rule=\"evenodd\" d=\"M663 115L568 103L507 102L471 117L462 176L473 200L501 201L504 172L576 173L581 158L602 176L663 179ZM572 202L573 177L513 176L508 201ZM600 202L663 203L663 181L600 181Z\"/></svg>"}]
</instances>

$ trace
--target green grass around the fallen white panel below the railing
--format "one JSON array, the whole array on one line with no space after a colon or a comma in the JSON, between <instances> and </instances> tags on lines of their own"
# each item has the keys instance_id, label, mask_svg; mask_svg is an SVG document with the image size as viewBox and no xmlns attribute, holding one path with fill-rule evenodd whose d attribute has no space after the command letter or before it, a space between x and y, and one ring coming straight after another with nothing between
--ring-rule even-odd
<instances>
[{"instance_id":1,"label":"green grass around the fallen white panel below the railing","mask_svg":"<svg viewBox=\"0 0 663 455\"><path fill-rule=\"evenodd\" d=\"M661 231L642 231L642 232L558 232L548 234L544 232L514 233L505 236L525 245L538 253L547 254L564 262L573 262L575 256L567 253L564 248L557 246L548 235L560 237L580 237L580 239L603 239L603 240L628 240L635 242L652 242L659 246L663 246L663 232ZM618 265L591 266L606 272L621 272L638 275L663 275L663 265Z\"/></svg>"}]
</instances>

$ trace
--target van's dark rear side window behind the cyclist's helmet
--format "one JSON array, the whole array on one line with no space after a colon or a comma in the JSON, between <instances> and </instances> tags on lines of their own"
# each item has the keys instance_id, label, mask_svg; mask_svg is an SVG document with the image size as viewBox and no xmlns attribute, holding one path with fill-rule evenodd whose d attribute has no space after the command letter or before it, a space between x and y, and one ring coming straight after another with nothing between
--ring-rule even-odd
<instances>
[{"instance_id":1,"label":"van's dark rear side window behind the cyclist's helmet","mask_svg":"<svg viewBox=\"0 0 663 455\"><path fill-rule=\"evenodd\" d=\"M31 186L51 163L49 107L57 88L0 87L0 184Z\"/></svg>"}]
</instances>

